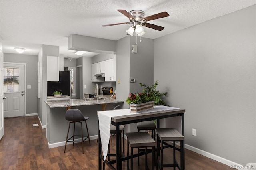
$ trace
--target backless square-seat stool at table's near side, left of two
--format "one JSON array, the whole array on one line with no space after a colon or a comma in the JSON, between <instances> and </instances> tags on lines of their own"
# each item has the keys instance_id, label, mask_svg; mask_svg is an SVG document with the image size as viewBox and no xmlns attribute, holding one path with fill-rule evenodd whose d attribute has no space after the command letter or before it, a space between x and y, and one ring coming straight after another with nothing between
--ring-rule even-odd
<instances>
[{"instance_id":1,"label":"backless square-seat stool at table's near side, left of two","mask_svg":"<svg viewBox=\"0 0 256 170\"><path fill-rule=\"evenodd\" d=\"M133 169L133 148L146 148L145 151L145 169L148 168L148 147L152 148L152 170L154 170L154 162L155 162L155 148L156 141L154 141L148 132L134 132L134 133L126 133L127 136L127 157L129 156L129 144L131 147L131 170ZM127 159L127 169L129 169L129 159Z\"/></svg>"}]
</instances>

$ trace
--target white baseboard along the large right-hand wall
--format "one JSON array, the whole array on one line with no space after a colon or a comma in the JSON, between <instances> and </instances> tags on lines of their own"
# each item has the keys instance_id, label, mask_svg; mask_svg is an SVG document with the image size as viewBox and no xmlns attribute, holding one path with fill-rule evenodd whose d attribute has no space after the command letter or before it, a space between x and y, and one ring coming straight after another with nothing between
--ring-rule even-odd
<instances>
[{"instance_id":1,"label":"white baseboard along the large right-hand wall","mask_svg":"<svg viewBox=\"0 0 256 170\"><path fill-rule=\"evenodd\" d=\"M198 154L201 154L203 156L206 156L208 158L211 158L213 160L216 160L222 164L226 164L228 166L230 166L230 169L233 169L232 167L242 167L241 164L237 164L236 162L232 162L230 160L227 160L225 158L222 158L220 156L217 156L217 155L214 155L214 154L211 154L209 152L206 152L204 150L201 150L201 149L198 149L198 148L195 148L193 146L190 146L188 144L185 144L185 148L188 149L188 150L192 150L193 152L196 152ZM242 170L242 169L238 169L238 170Z\"/></svg>"}]
</instances>

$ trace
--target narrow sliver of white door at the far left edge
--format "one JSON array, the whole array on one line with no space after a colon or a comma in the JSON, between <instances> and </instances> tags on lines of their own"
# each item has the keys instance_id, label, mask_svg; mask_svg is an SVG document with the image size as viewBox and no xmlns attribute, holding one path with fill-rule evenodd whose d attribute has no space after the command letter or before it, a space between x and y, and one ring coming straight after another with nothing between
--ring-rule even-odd
<instances>
[{"instance_id":1,"label":"narrow sliver of white door at the far left edge","mask_svg":"<svg viewBox=\"0 0 256 170\"><path fill-rule=\"evenodd\" d=\"M0 51L0 140L4 136L4 92L3 92L3 80L4 80L4 54Z\"/></svg>"}]
</instances>

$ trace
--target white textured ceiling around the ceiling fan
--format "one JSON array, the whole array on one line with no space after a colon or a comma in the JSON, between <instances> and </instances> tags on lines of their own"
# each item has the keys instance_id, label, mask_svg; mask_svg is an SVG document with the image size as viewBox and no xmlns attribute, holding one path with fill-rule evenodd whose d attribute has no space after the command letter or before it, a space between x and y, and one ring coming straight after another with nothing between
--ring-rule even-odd
<instances>
[{"instance_id":1,"label":"white textured ceiling around the ceiling fan","mask_svg":"<svg viewBox=\"0 0 256 170\"><path fill-rule=\"evenodd\" d=\"M255 0L0 0L0 35L4 53L23 47L24 54L38 55L46 44L60 46L64 57L78 57L68 50L70 34L110 40L127 36L125 30L131 25L102 27L129 22L117 9L143 10L145 16L168 12L169 17L148 22L164 30L144 27L142 39L155 39L254 4Z\"/></svg>"}]
</instances>

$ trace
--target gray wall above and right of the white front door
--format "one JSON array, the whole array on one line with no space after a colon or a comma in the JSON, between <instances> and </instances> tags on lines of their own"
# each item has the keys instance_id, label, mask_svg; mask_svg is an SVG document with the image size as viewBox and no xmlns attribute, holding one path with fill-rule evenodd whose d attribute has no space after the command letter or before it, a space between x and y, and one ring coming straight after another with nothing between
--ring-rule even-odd
<instances>
[{"instance_id":1,"label":"gray wall above and right of the white front door","mask_svg":"<svg viewBox=\"0 0 256 170\"><path fill-rule=\"evenodd\" d=\"M26 63L26 84L31 89L26 89L26 114L37 113L37 56L4 53L4 62Z\"/></svg>"}]
</instances>

